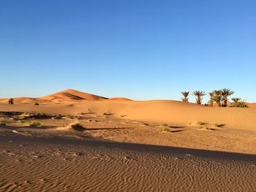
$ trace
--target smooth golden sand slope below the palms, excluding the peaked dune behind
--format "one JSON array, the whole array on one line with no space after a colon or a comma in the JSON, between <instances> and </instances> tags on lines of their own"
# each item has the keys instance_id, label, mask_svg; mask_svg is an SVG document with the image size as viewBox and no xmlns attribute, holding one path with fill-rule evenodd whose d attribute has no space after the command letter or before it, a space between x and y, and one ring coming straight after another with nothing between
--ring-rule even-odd
<instances>
[{"instance_id":1,"label":"smooth golden sand slope below the palms, excluding the peaked dune behind","mask_svg":"<svg viewBox=\"0 0 256 192\"><path fill-rule=\"evenodd\" d=\"M51 115L88 112L98 115L113 113L116 118L146 120L148 122L188 125L205 122L225 124L229 128L255 129L255 108L205 107L184 104L180 101L83 101L73 104L7 105L0 104L0 111L44 112Z\"/></svg>"}]
</instances>

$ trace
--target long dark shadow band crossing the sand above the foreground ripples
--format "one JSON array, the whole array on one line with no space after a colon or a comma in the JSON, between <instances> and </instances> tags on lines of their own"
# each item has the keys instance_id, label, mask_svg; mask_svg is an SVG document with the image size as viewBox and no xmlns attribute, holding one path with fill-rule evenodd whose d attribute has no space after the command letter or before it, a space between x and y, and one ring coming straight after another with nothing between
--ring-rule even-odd
<instances>
[{"instance_id":1,"label":"long dark shadow band crossing the sand above the foreground ripples","mask_svg":"<svg viewBox=\"0 0 256 192\"><path fill-rule=\"evenodd\" d=\"M256 162L256 155L243 154L243 153L230 153L230 152L220 152L220 151L211 151L211 150L197 150L189 149L184 147L165 147L158 145L142 145L134 143L124 143L124 142L110 142L99 141L92 139L67 139L62 137L24 137L22 135L10 134L7 137L0 135L0 145L1 142L8 142L12 139L13 142L31 142L41 143L41 144L57 144L57 145L77 145L81 147L106 147L108 149L119 148L121 150L132 150L142 153L154 153L154 154L170 154L170 155L192 155L200 158L221 158L228 159L232 161L249 161Z\"/></svg>"}]
</instances>

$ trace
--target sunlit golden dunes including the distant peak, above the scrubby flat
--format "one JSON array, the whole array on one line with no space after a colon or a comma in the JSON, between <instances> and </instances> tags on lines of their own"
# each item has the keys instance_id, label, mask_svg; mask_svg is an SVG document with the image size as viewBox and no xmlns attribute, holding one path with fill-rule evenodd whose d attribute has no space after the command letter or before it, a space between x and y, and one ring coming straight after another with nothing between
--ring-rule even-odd
<instances>
[{"instance_id":1,"label":"sunlit golden dunes including the distant peak, above the scrubby flat","mask_svg":"<svg viewBox=\"0 0 256 192\"><path fill-rule=\"evenodd\" d=\"M99 115L113 113L117 118L147 120L157 123L188 124L206 122L225 124L230 128L255 129L256 104L249 109L205 107L181 101L131 101L125 98L107 99L89 93L68 89L41 98L18 98L13 106L1 99L0 111L45 112L49 114L74 114L92 110ZM38 102L39 106L34 106ZM27 104L27 105L25 105Z\"/></svg>"}]
</instances>

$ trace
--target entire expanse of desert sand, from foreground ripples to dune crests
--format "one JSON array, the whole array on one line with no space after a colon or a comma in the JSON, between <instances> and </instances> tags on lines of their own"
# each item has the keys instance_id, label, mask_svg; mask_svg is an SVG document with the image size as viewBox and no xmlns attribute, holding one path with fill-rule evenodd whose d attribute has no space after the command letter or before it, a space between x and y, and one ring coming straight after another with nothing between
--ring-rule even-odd
<instances>
[{"instance_id":1,"label":"entire expanse of desert sand, from foreground ripples to dune crests","mask_svg":"<svg viewBox=\"0 0 256 192\"><path fill-rule=\"evenodd\" d=\"M256 108L0 99L0 191L254 191ZM39 105L34 105L34 103Z\"/></svg>"}]
</instances>

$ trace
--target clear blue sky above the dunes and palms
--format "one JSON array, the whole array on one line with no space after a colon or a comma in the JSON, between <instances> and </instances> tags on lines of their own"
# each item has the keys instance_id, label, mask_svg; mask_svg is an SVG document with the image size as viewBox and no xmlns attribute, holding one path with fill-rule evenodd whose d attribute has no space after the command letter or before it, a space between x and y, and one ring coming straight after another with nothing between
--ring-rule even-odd
<instances>
[{"instance_id":1,"label":"clear blue sky above the dunes and palms","mask_svg":"<svg viewBox=\"0 0 256 192\"><path fill-rule=\"evenodd\" d=\"M256 1L0 1L0 66L0 98L231 88L256 101Z\"/></svg>"}]
</instances>

